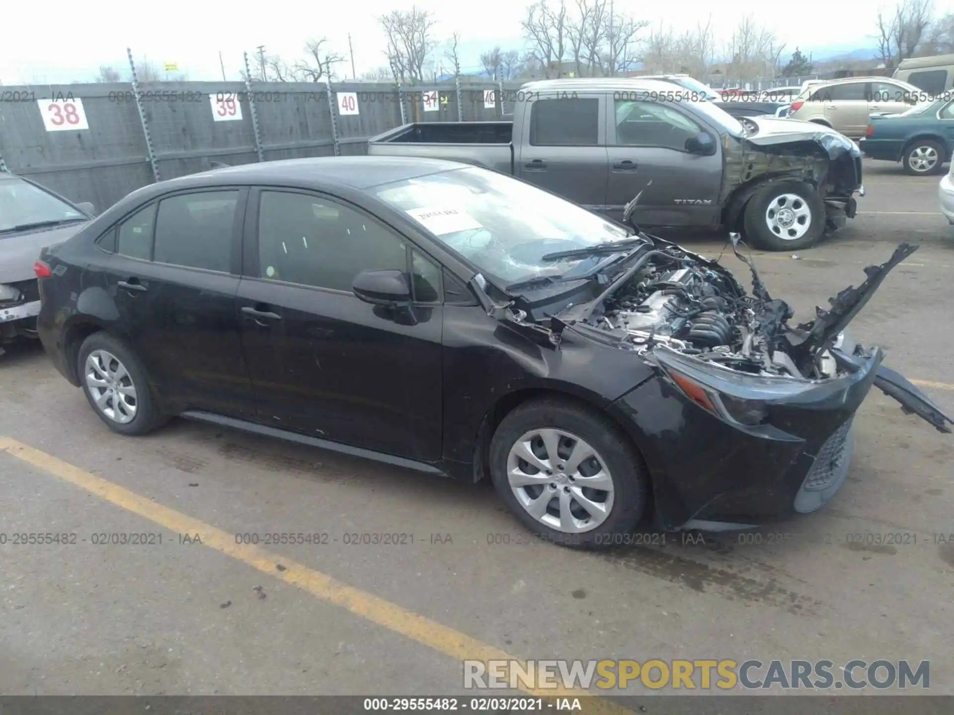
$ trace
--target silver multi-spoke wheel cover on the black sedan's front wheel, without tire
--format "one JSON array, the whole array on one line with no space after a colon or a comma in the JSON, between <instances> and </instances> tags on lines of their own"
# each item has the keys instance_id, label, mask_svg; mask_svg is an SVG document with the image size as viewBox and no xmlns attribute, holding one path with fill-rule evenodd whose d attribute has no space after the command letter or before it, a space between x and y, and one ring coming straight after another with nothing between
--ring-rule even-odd
<instances>
[{"instance_id":1,"label":"silver multi-spoke wheel cover on the black sedan's front wheel, without tire","mask_svg":"<svg viewBox=\"0 0 954 715\"><path fill-rule=\"evenodd\" d=\"M612 511L613 482L590 444L564 430L545 428L517 439L507 458L513 496L536 521L557 531L590 531Z\"/></svg>"}]
</instances>

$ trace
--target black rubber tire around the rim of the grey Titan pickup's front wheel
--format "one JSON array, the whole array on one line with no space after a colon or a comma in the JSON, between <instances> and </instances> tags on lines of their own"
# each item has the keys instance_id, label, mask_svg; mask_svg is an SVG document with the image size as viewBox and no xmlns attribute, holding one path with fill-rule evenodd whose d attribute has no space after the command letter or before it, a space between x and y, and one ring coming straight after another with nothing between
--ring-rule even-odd
<instances>
[{"instance_id":1,"label":"black rubber tire around the rim of the grey Titan pickup's front wheel","mask_svg":"<svg viewBox=\"0 0 954 715\"><path fill-rule=\"evenodd\" d=\"M783 237L781 229L778 234L773 232L767 222L769 207L786 194L796 197L787 201L786 206L795 207L801 211L803 204L811 215L810 218L806 218L807 231L797 238ZM814 246L824 234L826 222L825 202L821 200L821 196L814 187L801 181L777 181L766 184L758 189L745 205L745 236L757 248L766 251L796 251ZM798 227L793 224L788 231L798 231Z\"/></svg>"}]
</instances>

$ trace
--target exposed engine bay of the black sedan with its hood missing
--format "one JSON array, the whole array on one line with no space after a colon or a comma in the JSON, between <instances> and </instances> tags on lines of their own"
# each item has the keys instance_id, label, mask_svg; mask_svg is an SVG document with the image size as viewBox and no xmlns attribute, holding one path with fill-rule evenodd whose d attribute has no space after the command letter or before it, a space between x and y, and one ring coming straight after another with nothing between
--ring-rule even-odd
<instances>
[{"instance_id":1,"label":"exposed engine bay of the black sedan with its hood missing","mask_svg":"<svg viewBox=\"0 0 954 715\"><path fill-rule=\"evenodd\" d=\"M672 244L657 246L587 322L622 335L638 352L663 344L752 375L835 376L838 365L827 351L793 358L802 326L788 326L792 309L768 296L755 271L753 276L756 296L716 262Z\"/></svg>"}]
</instances>

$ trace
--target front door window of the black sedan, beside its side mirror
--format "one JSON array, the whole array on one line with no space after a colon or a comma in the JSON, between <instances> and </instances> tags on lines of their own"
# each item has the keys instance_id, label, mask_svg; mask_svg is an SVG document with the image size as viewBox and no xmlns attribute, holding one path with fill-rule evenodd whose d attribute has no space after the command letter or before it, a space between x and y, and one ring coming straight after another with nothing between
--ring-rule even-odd
<instances>
[{"instance_id":1,"label":"front door window of the black sedan, beside its side mirror","mask_svg":"<svg viewBox=\"0 0 954 715\"><path fill-rule=\"evenodd\" d=\"M404 241L390 229L319 196L261 193L259 277L350 293L355 276L376 270L407 272Z\"/></svg>"}]
</instances>

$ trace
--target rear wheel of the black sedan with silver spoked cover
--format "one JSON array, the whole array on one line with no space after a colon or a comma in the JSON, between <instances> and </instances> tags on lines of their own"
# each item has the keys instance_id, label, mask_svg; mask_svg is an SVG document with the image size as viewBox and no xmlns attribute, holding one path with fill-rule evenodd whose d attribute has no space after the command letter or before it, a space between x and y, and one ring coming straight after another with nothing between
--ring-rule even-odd
<instances>
[{"instance_id":1,"label":"rear wheel of the black sedan with silver spoked cover","mask_svg":"<svg viewBox=\"0 0 954 715\"><path fill-rule=\"evenodd\" d=\"M79 348L76 372L93 411L110 429L144 435L164 420L133 351L108 333L93 333Z\"/></svg>"}]
</instances>

